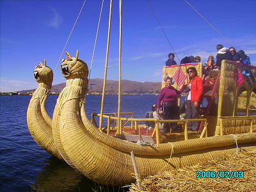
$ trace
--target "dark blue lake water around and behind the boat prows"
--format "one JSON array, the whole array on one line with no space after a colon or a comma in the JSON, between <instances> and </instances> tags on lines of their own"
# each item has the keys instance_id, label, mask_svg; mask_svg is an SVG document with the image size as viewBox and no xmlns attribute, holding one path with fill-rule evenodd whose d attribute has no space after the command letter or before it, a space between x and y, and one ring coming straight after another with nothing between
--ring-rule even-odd
<instances>
[{"instance_id":1,"label":"dark blue lake water around and behind the boat prows","mask_svg":"<svg viewBox=\"0 0 256 192\"><path fill-rule=\"evenodd\" d=\"M50 95L47 111L52 116L58 95ZM30 95L0 96L0 191L123 191L100 186L47 154L31 137L26 111ZM106 95L104 113L117 112L117 95ZM122 95L122 112L144 118L157 101L156 95ZM100 113L101 95L86 95L88 117Z\"/></svg>"}]
</instances>

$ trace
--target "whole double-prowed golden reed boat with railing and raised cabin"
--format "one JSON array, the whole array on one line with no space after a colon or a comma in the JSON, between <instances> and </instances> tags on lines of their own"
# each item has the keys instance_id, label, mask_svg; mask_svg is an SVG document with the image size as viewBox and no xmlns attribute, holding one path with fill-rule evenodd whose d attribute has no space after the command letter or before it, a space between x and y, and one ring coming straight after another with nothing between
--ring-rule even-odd
<instances>
[{"instance_id":1,"label":"whole double-prowed golden reed boat with railing and raised cabin","mask_svg":"<svg viewBox=\"0 0 256 192\"><path fill-rule=\"evenodd\" d=\"M139 122L145 119L121 117L120 108L117 117L113 114L104 114L101 110L100 114L93 114L90 120L85 109L88 67L79 59L78 51L75 57L68 52L66 55L67 58L61 64L61 73L67 82L56 102L52 121L45 110L45 101L51 89L52 72L42 64L35 70L39 88L33 94L28 108L29 131L38 145L47 152L63 158L70 166L99 184L131 184L136 182L136 179L138 181L139 178L164 170L225 157L239 150L256 149L256 115L250 111L250 106L255 106L256 103L255 66L223 60L220 72L216 72L216 76L210 79L202 75L202 63L163 67L162 86L164 77L172 77L177 72L186 74L188 67L195 67L198 76L202 77L204 82L207 106L202 108L202 118L197 120L147 119L154 121L156 125L152 134L148 136L143 135L139 125ZM240 76L244 71L254 79ZM239 86L237 76L243 79ZM106 83L106 78L104 82ZM179 88L179 85L178 79L174 86ZM242 108L239 106L239 99L242 96L245 100L244 115L239 113L239 109ZM104 88L102 108L103 104ZM209 113L213 104L216 107L214 114ZM95 116L100 117L99 127L95 122ZM106 127L102 127L102 118L108 120ZM197 138L192 138L191 132L188 132L187 124L192 121L201 122ZM134 130L132 134L127 134L125 130L128 127L127 122L129 129ZM184 124L184 132L167 134L181 135L182 140L161 142L159 124L163 122ZM44 143L46 138L49 141Z\"/></svg>"}]
</instances>

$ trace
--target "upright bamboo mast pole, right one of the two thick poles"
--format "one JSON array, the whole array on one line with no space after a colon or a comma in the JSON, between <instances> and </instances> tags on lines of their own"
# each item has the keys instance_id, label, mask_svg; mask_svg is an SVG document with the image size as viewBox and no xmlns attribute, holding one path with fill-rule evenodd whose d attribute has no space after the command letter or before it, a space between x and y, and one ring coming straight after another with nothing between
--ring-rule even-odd
<instances>
[{"instance_id":1,"label":"upright bamboo mast pole, right one of the two thick poles","mask_svg":"<svg viewBox=\"0 0 256 192\"><path fill-rule=\"evenodd\" d=\"M120 125L120 108L121 108L121 55L122 55L122 0L119 0L119 81L118 81L118 111L117 127L121 132Z\"/></svg>"}]
</instances>

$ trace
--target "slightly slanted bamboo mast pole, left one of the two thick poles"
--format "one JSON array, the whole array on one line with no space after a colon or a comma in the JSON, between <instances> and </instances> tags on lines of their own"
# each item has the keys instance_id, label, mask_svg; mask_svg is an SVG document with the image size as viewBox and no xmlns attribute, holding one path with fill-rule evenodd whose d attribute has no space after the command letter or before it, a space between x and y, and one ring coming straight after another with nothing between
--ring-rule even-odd
<instances>
[{"instance_id":1,"label":"slightly slanted bamboo mast pole, left one of the two thick poles","mask_svg":"<svg viewBox=\"0 0 256 192\"><path fill-rule=\"evenodd\" d=\"M107 43L107 50L106 50L105 72L104 72L104 81L103 81L102 99L101 99L101 108L100 108L100 122L99 122L100 130L102 130L102 114L104 109L106 79L107 79L107 71L108 71L108 54L109 54L109 41L110 41L110 29L111 29L112 3L113 3L113 0L110 0L109 22L108 22L108 43Z\"/></svg>"}]
</instances>

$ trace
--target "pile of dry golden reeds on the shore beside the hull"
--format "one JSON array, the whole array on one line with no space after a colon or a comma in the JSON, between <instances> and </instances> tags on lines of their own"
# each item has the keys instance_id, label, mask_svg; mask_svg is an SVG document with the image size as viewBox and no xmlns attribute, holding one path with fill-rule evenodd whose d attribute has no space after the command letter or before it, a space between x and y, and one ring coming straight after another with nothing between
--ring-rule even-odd
<instances>
[{"instance_id":1,"label":"pile of dry golden reeds on the shore beside the hull","mask_svg":"<svg viewBox=\"0 0 256 192\"><path fill-rule=\"evenodd\" d=\"M243 178L196 178L196 172L244 173ZM141 190L136 184L130 191L256 191L256 150L243 151L222 159L207 161L178 170L158 173L141 180Z\"/></svg>"}]
</instances>

